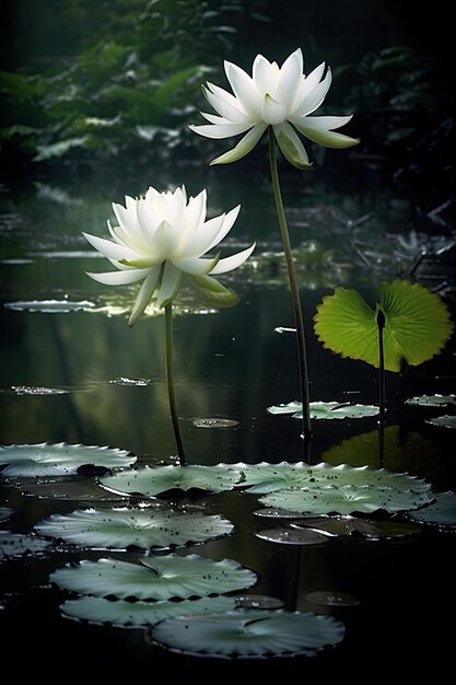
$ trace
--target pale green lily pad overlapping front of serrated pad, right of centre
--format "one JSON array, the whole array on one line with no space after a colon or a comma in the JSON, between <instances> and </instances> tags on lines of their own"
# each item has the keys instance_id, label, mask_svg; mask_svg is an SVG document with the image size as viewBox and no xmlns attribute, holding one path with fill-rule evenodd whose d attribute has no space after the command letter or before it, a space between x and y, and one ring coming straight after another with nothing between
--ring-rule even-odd
<instances>
[{"instance_id":1,"label":"pale green lily pad overlapping front of serrated pad, right of centre","mask_svg":"<svg viewBox=\"0 0 456 685\"><path fill-rule=\"evenodd\" d=\"M390 513L418 509L433 499L426 491L413 492L399 488L370 487L313 487L278 490L260 498L266 507L280 507L290 511L314 514L372 513L384 509Z\"/></svg>"}]
</instances>

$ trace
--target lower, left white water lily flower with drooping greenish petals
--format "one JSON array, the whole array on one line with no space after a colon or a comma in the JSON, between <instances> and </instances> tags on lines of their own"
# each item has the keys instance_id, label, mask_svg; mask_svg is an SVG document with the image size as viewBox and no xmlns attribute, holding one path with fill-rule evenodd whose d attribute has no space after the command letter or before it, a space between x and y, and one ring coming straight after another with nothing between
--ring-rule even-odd
<instances>
[{"instance_id":1,"label":"lower, left white water lily flower with drooping greenish petals","mask_svg":"<svg viewBox=\"0 0 456 685\"><path fill-rule=\"evenodd\" d=\"M132 326L151 300L165 307L177 295L184 276L202 297L215 306L232 306L238 298L212 276L241 266L252 254L255 243L231 257L202 257L232 229L241 206L227 213L206 220L207 193L187 200L182 186L159 193L150 187L144 197L126 197L126 206L113 202L119 223L108 230L112 241L83 233L103 256L119 269L87 274L107 286L125 286L142 280L128 324Z\"/></svg>"}]
</instances>

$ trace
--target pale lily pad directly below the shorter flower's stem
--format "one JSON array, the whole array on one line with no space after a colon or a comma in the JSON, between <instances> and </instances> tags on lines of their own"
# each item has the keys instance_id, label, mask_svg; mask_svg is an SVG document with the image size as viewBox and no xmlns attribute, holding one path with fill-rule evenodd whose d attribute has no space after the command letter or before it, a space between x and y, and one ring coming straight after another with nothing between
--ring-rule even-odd
<instances>
[{"instance_id":1,"label":"pale lily pad directly below the shorter flower's stem","mask_svg":"<svg viewBox=\"0 0 456 685\"><path fill-rule=\"evenodd\" d=\"M198 488L212 492L232 490L241 478L236 467L217 466L144 466L100 479L100 484L122 495L155 497L167 490Z\"/></svg>"}]
</instances>

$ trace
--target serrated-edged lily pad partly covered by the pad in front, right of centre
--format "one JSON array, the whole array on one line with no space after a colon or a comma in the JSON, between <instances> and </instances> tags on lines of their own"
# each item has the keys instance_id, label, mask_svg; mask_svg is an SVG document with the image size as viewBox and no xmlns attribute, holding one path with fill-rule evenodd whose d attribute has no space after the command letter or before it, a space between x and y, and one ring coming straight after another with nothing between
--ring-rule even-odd
<instances>
[{"instance_id":1,"label":"serrated-edged lily pad partly covered by the pad in front, right of centre","mask_svg":"<svg viewBox=\"0 0 456 685\"><path fill-rule=\"evenodd\" d=\"M370 466L354 467L348 464L331 466L326 462L316 466L311 466L306 462L280 462L279 464L261 462L259 464L234 464L234 466L244 474L244 480L239 486L250 486L246 491L254 495L284 488L304 487L312 490L325 486L395 487L412 489L416 492L424 492L431 488L429 483L416 476Z\"/></svg>"}]
</instances>

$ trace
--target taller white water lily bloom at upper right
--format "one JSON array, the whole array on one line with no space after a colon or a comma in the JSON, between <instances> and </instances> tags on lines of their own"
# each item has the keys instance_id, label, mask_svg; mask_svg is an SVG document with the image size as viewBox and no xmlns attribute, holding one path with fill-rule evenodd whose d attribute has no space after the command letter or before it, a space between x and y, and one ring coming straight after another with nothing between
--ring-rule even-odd
<instances>
[{"instance_id":1,"label":"taller white water lily bloom at upper right","mask_svg":"<svg viewBox=\"0 0 456 685\"><path fill-rule=\"evenodd\" d=\"M297 49L282 67L257 55L252 77L229 61L224 62L224 68L234 94L207 83L203 93L219 116L201 112L209 124L190 128L208 138L230 138L247 132L235 148L211 164L227 164L242 159L269 126L272 126L283 155L299 169L308 169L311 163L296 130L326 148L351 148L359 142L335 132L336 128L348 124L352 115L308 116L321 105L331 84L330 69L324 77L325 62L305 76L303 54Z\"/></svg>"}]
</instances>

